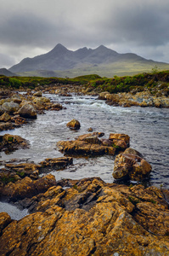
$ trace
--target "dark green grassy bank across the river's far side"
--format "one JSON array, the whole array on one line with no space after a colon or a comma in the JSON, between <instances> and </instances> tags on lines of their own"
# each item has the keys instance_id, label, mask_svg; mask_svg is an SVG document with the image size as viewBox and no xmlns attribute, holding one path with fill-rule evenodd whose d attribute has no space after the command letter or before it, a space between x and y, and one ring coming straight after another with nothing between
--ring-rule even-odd
<instances>
[{"instance_id":1,"label":"dark green grassy bank across the river's far side","mask_svg":"<svg viewBox=\"0 0 169 256\"><path fill-rule=\"evenodd\" d=\"M114 76L112 79L101 78L99 75L86 75L74 79L41 78L41 77L12 77L0 76L0 87L5 88L30 88L53 85L84 85L91 90L109 91L110 93L150 90L152 94L162 90L169 95L169 70L151 73L140 73L134 76Z\"/></svg>"}]
</instances>

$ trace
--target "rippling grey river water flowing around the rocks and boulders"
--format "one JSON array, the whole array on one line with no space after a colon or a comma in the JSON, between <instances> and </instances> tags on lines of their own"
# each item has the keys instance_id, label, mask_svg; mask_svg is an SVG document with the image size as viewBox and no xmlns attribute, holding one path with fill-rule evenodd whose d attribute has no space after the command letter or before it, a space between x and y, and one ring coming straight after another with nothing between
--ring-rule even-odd
<instances>
[{"instance_id":1,"label":"rippling grey river water flowing around the rocks and boulders","mask_svg":"<svg viewBox=\"0 0 169 256\"><path fill-rule=\"evenodd\" d=\"M125 133L130 136L130 147L144 155L153 167L148 185L161 185L169 189L169 110L166 108L121 108L99 101L94 96L48 96L52 102L60 102L66 109L47 111L36 120L12 131L2 131L20 135L31 143L31 148L20 149L12 154L1 153L0 160L26 159L39 163L45 158L63 156L56 147L59 140L70 140L93 131L103 131L108 138L110 132ZM81 123L79 131L71 131L66 124L71 119ZM56 180L60 178L80 179L101 177L113 183L114 156L74 158L73 165L63 171L52 172Z\"/></svg>"}]
</instances>

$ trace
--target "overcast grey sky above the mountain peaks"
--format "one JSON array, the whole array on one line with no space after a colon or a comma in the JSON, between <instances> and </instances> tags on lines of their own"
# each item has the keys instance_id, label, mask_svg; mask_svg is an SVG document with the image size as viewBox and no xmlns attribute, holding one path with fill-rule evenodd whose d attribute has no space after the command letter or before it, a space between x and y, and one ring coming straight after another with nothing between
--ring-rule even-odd
<instances>
[{"instance_id":1,"label":"overcast grey sky above the mountain peaks","mask_svg":"<svg viewBox=\"0 0 169 256\"><path fill-rule=\"evenodd\" d=\"M0 0L0 68L56 44L169 62L168 14L168 0Z\"/></svg>"}]
</instances>

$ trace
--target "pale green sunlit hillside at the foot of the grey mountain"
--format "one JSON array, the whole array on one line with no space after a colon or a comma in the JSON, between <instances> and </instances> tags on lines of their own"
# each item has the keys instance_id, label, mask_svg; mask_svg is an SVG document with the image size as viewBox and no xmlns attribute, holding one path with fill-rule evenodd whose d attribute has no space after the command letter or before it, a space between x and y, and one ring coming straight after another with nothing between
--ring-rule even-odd
<instances>
[{"instance_id":1,"label":"pale green sunlit hillside at the foot of the grey mountain","mask_svg":"<svg viewBox=\"0 0 169 256\"><path fill-rule=\"evenodd\" d=\"M134 75L138 73L150 73L153 68L157 68L158 71L168 70L169 64L150 61L147 62L131 62L131 61L119 61L115 63L110 63L107 65L99 65L99 66L86 66L81 68L73 68L65 71L31 71L24 73L17 73L20 76L27 77L59 77L59 78L75 78L77 76L87 75L96 73L101 77L113 78L115 75L117 76L126 76L126 75Z\"/></svg>"}]
</instances>

